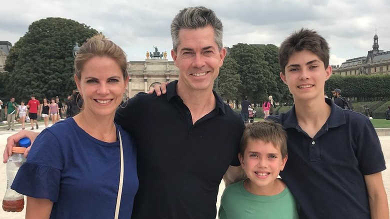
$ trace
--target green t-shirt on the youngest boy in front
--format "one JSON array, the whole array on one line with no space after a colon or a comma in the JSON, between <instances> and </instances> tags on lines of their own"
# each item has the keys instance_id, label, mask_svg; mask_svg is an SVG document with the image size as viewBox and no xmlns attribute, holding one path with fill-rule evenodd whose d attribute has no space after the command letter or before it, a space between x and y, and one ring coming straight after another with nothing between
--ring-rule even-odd
<instances>
[{"instance_id":1,"label":"green t-shirt on the youngest boy in front","mask_svg":"<svg viewBox=\"0 0 390 219\"><path fill-rule=\"evenodd\" d=\"M295 199L287 186L276 195L248 192L243 182L231 184L223 191L219 219L298 219Z\"/></svg>"}]
</instances>

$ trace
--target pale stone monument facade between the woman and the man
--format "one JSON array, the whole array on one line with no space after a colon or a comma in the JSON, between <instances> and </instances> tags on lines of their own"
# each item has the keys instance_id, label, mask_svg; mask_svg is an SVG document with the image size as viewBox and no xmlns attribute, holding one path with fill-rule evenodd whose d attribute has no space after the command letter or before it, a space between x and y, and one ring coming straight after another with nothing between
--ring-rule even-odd
<instances>
[{"instance_id":1,"label":"pale stone monument facade between the woman and the man","mask_svg":"<svg viewBox=\"0 0 390 219\"><path fill-rule=\"evenodd\" d=\"M173 61L168 61L165 58L129 61L127 70L129 74L128 97L132 97L138 92L147 92L157 83L178 79L178 68Z\"/></svg>"}]
</instances>

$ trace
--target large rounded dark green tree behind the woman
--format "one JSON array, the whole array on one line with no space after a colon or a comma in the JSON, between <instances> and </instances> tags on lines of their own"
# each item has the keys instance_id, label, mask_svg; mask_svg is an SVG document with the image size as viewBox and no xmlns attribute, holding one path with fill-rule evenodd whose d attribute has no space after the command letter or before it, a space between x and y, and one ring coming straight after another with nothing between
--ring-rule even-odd
<instances>
[{"instance_id":1,"label":"large rounded dark green tree behind the woman","mask_svg":"<svg viewBox=\"0 0 390 219\"><path fill-rule=\"evenodd\" d=\"M60 17L32 22L6 59L6 93L25 100L32 93L38 98L68 95L75 88L72 48L97 33Z\"/></svg>"}]
</instances>

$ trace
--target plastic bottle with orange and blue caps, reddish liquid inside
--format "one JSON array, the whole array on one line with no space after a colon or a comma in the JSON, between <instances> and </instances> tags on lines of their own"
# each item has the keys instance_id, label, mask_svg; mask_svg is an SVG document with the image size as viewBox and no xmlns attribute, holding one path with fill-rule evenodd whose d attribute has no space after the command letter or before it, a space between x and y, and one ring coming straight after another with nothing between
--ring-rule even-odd
<instances>
[{"instance_id":1,"label":"plastic bottle with orange and blue caps, reddish liquid inside","mask_svg":"<svg viewBox=\"0 0 390 219\"><path fill-rule=\"evenodd\" d=\"M31 144L27 137L21 138L17 146L12 147L12 155L7 160L7 188L2 199L2 209L4 211L20 212L24 208L24 196L11 189L11 184L16 172L25 161L23 152Z\"/></svg>"}]
</instances>

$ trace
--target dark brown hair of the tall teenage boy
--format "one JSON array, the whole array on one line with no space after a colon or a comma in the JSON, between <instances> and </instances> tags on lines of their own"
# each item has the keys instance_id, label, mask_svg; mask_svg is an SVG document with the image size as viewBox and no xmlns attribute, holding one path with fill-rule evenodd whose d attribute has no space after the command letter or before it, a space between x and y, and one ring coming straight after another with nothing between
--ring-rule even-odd
<instances>
[{"instance_id":1,"label":"dark brown hair of the tall teenage boy","mask_svg":"<svg viewBox=\"0 0 390 219\"><path fill-rule=\"evenodd\" d=\"M301 28L293 32L280 44L279 66L283 74L288 58L296 51L308 50L321 59L325 69L329 65L329 45L315 30Z\"/></svg>"}]
</instances>

